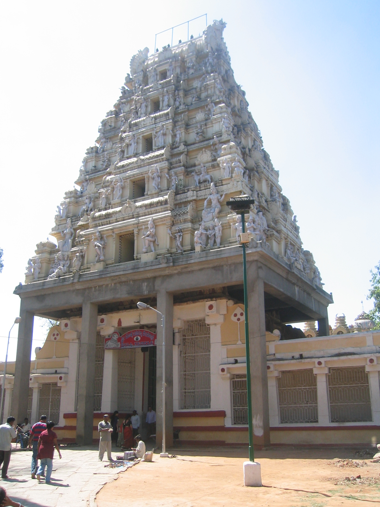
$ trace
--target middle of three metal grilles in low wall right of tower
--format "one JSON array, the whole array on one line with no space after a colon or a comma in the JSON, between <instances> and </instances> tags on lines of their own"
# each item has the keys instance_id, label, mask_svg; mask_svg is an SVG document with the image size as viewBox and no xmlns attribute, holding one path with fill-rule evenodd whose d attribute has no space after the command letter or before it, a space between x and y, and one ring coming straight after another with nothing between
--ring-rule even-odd
<instances>
[{"instance_id":1,"label":"middle of three metal grilles in low wall right of tower","mask_svg":"<svg viewBox=\"0 0 380 507\"><path fill-rule=\"evenodd\" d=\"M313 369L277 377L280 423L318 422L317 376Z\"/></svg>"}]
</instances>

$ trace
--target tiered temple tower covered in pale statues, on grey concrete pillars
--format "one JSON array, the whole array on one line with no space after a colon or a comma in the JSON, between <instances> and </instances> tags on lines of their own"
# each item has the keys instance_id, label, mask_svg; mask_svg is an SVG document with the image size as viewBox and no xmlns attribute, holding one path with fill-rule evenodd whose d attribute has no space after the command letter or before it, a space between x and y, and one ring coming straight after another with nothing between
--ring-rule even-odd
<instances>
[{"instance_id":1,"label":"tiered temple tower covered in pale statues, on grey concrete pillars","mask_svg":"<svg viewBox=\"0 0 380 507\"><path fill-rule=\"evenodd\" d=\"M241 303L241 223L225 204L241 194L255 201L245 220L253 233L247 267L257 442L269 440L265 332L317 320L319 335L329 334L332 297L323 290L312 253L302 248L279 171L263 149L246 94L235 82L224 28L222 20L214 21L198 38L151 55L145 48L131 59L121 96L101 121L74 188L57 207L51 234L58 246L38 243L25 284L15 289L23 338L17 349L16 416L25 412L35 314L65 320L63 331L73 333L67 339L80 339L77 441L89 443L97 333L107 336L123 327L120 312L132 311L142 300L165 313L171 345L173 330L176 336L182 325L173 319L176 306ZM199 318L206 318L212 337L224 314L214 305ZM158 322L157 386L162 383L162 340ZM221 361L212 355L212 346L211 409L217 404L212 369ZM166 347L165 361L170 443L177 364L171 347ZM160 403L157 394L158 442Z\"/></svg>"}]
</instances>

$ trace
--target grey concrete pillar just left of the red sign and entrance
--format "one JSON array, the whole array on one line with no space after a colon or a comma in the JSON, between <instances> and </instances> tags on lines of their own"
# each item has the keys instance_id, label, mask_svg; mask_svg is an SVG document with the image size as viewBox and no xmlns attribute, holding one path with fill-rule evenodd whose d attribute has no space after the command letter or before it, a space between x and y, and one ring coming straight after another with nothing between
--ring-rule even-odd
<instances>
[{"instance_id":1,"label":"grey concrete pillar just left of the red sign and entrance","mask_svg":"<svg viewBox=\"0 0 380 507\"><path fill-rule=\"evenodd\" d=\"M77 444L92 444L94 421L94 382L98 305L86 301L82 306L82 333L77 396Z\"/></svg>"}]
</instances>

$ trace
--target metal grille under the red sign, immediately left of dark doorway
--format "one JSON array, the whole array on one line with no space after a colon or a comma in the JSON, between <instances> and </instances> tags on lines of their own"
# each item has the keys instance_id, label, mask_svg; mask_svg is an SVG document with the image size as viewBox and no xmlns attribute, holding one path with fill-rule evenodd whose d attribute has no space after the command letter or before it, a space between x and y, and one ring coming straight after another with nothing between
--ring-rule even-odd
<instances>
[{"instance_id":1,"label":"metal grille under the red sign, immediately left of dark doorway","mask_svg":"<svg viewBox=\"0 0 380 507\"><path fill-rule=\"evenodd\" d=\"M135 400L135 350L118 351L118 409L133 410Z\"/></svg>"}]
</instances>

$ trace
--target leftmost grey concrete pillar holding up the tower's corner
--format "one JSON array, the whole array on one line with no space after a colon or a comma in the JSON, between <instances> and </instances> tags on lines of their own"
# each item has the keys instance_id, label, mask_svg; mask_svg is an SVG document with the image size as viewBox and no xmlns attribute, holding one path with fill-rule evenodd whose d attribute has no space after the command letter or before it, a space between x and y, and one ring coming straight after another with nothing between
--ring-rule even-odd
<instances>
[{"instance_id":1,"label":"leftmost grey concrete pillar holding up the tower's corner","mask_svg":"<svg viewBox=\"0 0 380 507\"><path fill-rule=\"evenodd\" d=\"M18 341L15 367L15 383L12 412L16 421L23 421L28 413L30 354L33 337L34 315L20 305L21 322L18 325Z\"/></svg>"}]
</instances>

